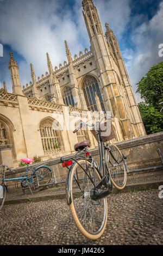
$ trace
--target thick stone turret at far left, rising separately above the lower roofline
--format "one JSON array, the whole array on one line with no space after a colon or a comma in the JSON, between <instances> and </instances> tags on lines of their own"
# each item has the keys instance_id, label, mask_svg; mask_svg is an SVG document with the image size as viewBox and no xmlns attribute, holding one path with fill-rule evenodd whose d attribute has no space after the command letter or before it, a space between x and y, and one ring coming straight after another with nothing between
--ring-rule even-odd
<instances>
[{"instance_id":1,"label":"thick stone turret at far left, rising separately above the lower roofline","mask_svg":"<svg viewBox=\"0 0 163 256\"><path fill-rule=\"evenodd\" d=\"M20 83L20 77L18 74L18 65L16 60L13 57L12 52L10 52L9 70L10 70L11 81L12 81L12 92L16 95L23 95L22 87Z\"/></svg>"}]
</instances>

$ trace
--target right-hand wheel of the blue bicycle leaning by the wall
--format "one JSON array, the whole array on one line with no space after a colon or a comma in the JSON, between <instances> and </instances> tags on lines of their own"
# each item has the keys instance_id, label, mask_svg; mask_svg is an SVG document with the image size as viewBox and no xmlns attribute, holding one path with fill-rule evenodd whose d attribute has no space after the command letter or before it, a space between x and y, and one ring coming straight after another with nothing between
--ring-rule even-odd
<instances>
[{"instance_id":1,"label":"right-hand wheel of the blue bicycle leaning by the wall","mask_svg":"<svg viewBox=\"0 0 163 256\"><path fill-rule=\"evenodd\" d=\"M37 174L41 175L42 178L39 178L39 185L48 184L51 182L52 179L52 170L48 166L40 166L36 170L36 176Z\"/></svg>"}]
</instances>

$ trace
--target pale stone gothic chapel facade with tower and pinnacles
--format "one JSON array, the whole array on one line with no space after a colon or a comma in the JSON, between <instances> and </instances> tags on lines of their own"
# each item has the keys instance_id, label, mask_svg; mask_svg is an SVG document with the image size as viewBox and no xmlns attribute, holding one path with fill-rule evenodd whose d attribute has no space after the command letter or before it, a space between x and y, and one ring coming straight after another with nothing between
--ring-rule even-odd
<instances>
[{"instance_id":1,"label":"pale stone gothic chapel facade with tower and pinnacles","mask_svg":"<svg viewBox=\"0 0 163 256\"><path fill-rule=\"evenodd\" d=\"M65 41L67 62L53 69L47 53L48 72L36 79L30 64L32 81L23 89L17 62L10 53L12 93L4 83L0 90L0 124L4 127L0 141L12 145L14 166L23 157L36 155L47 160L73 153L73 145L85 139L92 148L97 146L89 131L74 134L62 129L67 125L66 106L74 124L81 120L83 111L111 111L114 142L146 135L117 39L107 23L104 35L93 1L82 4L90 51L86 48L72 58ZM62 115L62 125L58 115ZM59 127L57 131L54 125Z\"/></svg>"}]
</instances>

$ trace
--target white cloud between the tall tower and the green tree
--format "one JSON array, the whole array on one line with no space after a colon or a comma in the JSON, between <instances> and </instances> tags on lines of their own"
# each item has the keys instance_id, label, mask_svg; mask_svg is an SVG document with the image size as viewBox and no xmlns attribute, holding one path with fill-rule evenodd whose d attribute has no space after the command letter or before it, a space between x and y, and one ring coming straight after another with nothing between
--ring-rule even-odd
<instances>
[{"instance_id":1,"label":"white cloud between the tall tower and the green tree","mask_svg":"<svg viewBox=\"0 0 163 256\"><path fill-rule=\"evenodd\" d=\"M143 22L139 27L133 29L131 40L135 50L126 49L122 56L126 58L126 66L134 92L138 83L154 64L163 61L159 57L159 44L163 43L163 2L160 3L158 12L149 21ZM137 101L140 95L136 94Z\"/></svg>"}]
</instances>

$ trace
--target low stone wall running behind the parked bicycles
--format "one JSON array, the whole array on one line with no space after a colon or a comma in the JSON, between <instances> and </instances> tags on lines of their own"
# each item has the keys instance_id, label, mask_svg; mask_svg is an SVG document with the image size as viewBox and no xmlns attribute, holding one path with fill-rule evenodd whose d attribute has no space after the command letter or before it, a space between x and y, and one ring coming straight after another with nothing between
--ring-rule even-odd
<instances>
[{"instance_id":1,"label":"low stone wall running behind the parked bicycles","mask_svg":"<svg viewBox=\"0 0 163 256\"><path fill-rule=\"evenodd\" d=\"M161 160L156 149L160 149L163 153L163 132L158 132L153 135L147 135L145 137L131 139L129 141L116 143L121 152L127 156L128 170L140 169L146 167L160 166ZM91 155L95 161L99 163L98 148L90 150ZM66 156L68 158L71 155ZM59 158L48 160L46 162L40 162L41 164L47 164L54 170L57 181L66 179L67 168L63 168L62 164L58 164ZM30 164L30 167L38 166L38 164ZM26 175L26 167L16 168L15 176ZM13 174L11 172L6 173L6 178L11 178ZM13 182L8 182L8 186L13 186ZM20 186L20 184L19 184Z\"/></svg>"}]
</instances>

